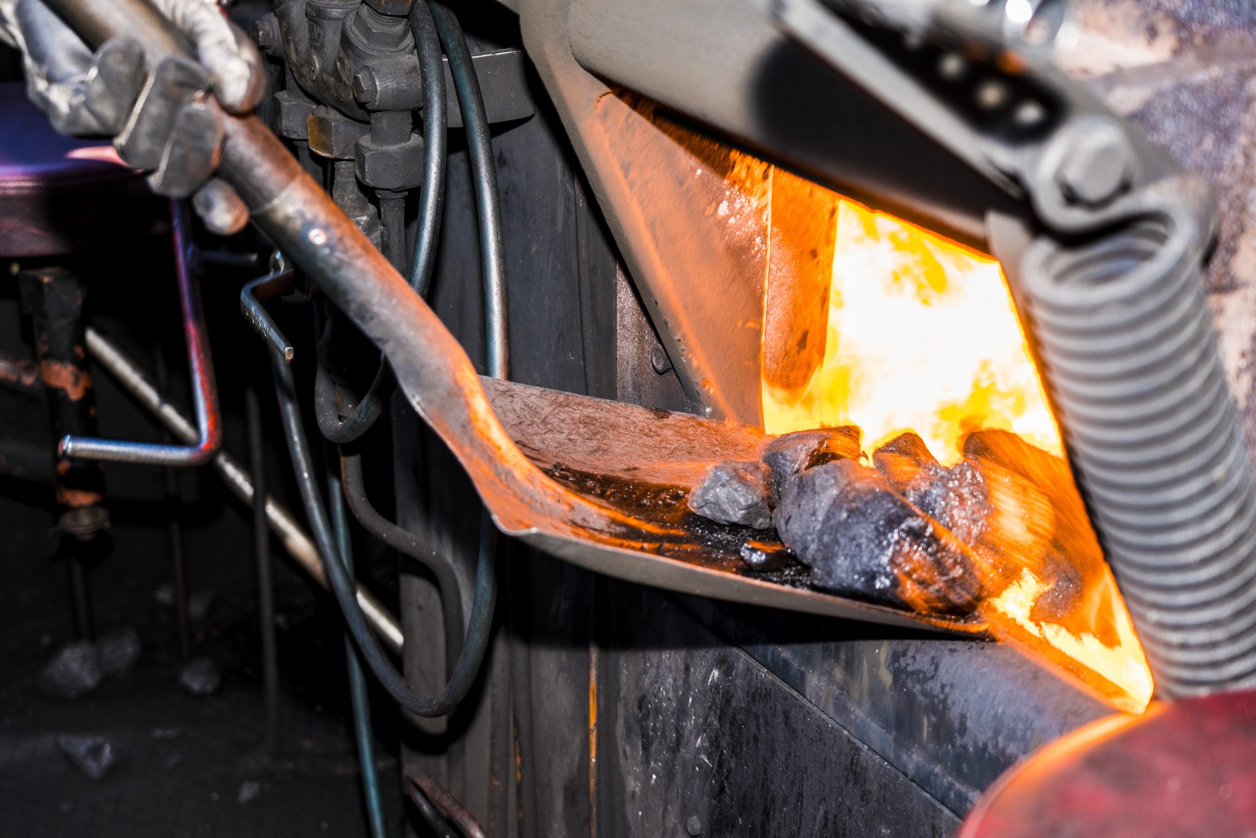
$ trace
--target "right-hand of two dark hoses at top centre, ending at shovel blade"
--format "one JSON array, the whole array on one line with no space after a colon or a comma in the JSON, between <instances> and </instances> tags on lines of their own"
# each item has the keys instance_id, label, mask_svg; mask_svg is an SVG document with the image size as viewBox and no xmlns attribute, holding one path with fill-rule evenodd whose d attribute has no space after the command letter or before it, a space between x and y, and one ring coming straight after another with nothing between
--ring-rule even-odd
<instances>
[{"instance_id":1,"label":"right-hand of two dark hoses at top centre, ending at shovel blade","mask_svg":"<svg viewBox=\"0 0 1256 838\"><path fill-rule=\"evenodd\" d=\"M492 138L484 95L471 50L458 19L440 3L428 3L441 45L450 58L453 90L462 111L462 124L471 155L471 180L475 183L476 212L480 216L480 250L484 260L485 332L489 340L489 374L507 377L509 335L506 332L506 254L501 232L501 201L497 197L497 170L492 162Z\"/></svg>"}]
</instances>

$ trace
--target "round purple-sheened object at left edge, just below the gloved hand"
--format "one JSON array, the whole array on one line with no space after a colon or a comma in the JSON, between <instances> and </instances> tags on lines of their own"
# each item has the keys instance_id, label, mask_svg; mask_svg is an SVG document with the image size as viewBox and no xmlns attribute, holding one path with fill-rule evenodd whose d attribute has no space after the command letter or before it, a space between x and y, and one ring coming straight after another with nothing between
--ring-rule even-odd
<instances>
[{"instance_id":1,"label":"round purple-sheened object at left edge, just below the gloved hand","mask_svg":"<svg viewBox=\"0 0 1256 838\"><path fill-rule=\"evenodd\" d=\"M60 136L20 83L0 83L0 258L136 241L163 216L112 146Z\"/></svg>"}]
</instances>

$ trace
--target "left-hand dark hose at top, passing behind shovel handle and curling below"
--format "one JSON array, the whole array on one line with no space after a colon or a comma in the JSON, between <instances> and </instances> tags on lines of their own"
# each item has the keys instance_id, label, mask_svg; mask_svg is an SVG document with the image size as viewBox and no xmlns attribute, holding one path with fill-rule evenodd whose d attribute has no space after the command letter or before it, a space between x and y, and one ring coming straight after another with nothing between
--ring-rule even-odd
<instances>
[{"instance_id":1,"label":"left-hand dark hose at top, passing behind shovel handle and curling below","mask_svg":"<svg viewBox=\"0 0 1256 838\"><path fill-rule=\"evenodd\" d=\"M441 58L436 23L432 20L431 10L425 4L414 4L409 13L409 25L414 30L414 41L418 44L418 64L423 75L423 186L418 200L418 232L414 236L414 254L409 263L407 279L420 297L427 297L432 285L432 268L436 264L436 246L441 237L445 167L448 158L445 60ZM479 87L476 90L479 92ZM485 121L485 134L487 136L487 121ZM496 178L494 178L492 188L492 193L496 196ZM500 229L499 217L499 241ZM401 270L399 266L398 270ZM347 406L338 403L342 395L332 381L332 376L320 367L314 382L314 398L319 405L319 431L329 441L338 445L353 442L369 431L371 426L379 418L394 383L387 362L381 361L379 369L365 395L357 405L347 410ZM342 421L340 416L345 413L348 413L348 418Z\"/></svg>"}]
</instances>

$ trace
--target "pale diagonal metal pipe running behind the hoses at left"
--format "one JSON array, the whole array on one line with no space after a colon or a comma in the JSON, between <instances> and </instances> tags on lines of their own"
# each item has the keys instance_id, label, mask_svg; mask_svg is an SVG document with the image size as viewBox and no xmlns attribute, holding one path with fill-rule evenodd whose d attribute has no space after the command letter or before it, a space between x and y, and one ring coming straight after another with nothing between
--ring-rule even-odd
<instances>
[{"instance_id":1,"label":"pale diagonal metal pipe running behind the hoses at left","mask_svg":"<svg viewBox=\"0 0 1256 838\"><path fill-rule=\"evenodd\" d=\"M108 369L122 387L136 401L148 408L171 433L183 441L191 441L197 437L197 430L192 426L191 420L183 416L153 386L139 367L108 338L92 327L88 327L85 346L92 358ZM226 451L219 451L217 456L214 457L214 469L236 498L245 504L252 504L252 481L239 460ZM291 513L283 504L271 496L263 496L266 499L266 519L270 521L270 528L284 543L284 549L319 585L327 588L327 577L323 574L323 565L319 562L318 550L314 548L310 536L305 534L305 530L301 529L301 525L296 523L296 519L293 518ZM397 622L397 618L388 612L383 603L376 599L374 594L362 585L357 588L357 601L367 622L384 645L388 646L389 651L394 655L401 655L403 637L401 623Z\"/></svg>"}]
</instances>

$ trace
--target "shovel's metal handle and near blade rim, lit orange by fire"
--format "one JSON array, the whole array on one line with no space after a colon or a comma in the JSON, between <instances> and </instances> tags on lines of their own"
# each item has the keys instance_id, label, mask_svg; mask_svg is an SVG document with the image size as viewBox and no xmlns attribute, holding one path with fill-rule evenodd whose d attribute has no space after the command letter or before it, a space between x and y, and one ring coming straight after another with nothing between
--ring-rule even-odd
<instances>
[{"instance_id":1,"label":"shovel's metal handle and near blade rim, lit orange by fire","mask_svg":"<svg viewBox=\"0 0 1256 838\"><path fill-rule=\"evenodd\" d=\"M143 0L53 5L92 43L127 31L144 44L149 62L187 54L170 23ZM383 351L411 406L458 457L504 533L582 567L683 593L897 626L980 631L978 624L926 618L643 552L664 535L674 540L685 534L599 504L545 475L497 420L458 342L281 141L256 117L222 114L222 119L226 144L220 172L249 205L254 224ZM592 438L600 418L597 411L584 416Z\"/></svg>"}]
</instances>

